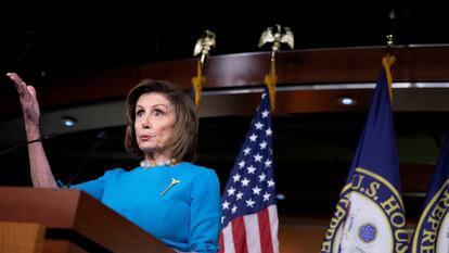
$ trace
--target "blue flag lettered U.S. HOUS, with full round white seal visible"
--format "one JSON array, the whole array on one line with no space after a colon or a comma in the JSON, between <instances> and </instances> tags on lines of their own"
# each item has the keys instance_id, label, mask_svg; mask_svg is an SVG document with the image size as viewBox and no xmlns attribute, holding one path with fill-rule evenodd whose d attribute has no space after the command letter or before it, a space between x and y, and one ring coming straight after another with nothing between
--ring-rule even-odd
<instances>
[{"instance_id":1,"label":"blue flag lettered U.S. HOUS, with full round white seal visible","mask_svg":"<svg viewBox=\"0 0 449 253\"><path fill-rule=\"evenodd\" d=\"M394 59L383 60L368 118L321 253L401 253L409 249L388 61L393 63Z\"/></svg>"}]
</instances>

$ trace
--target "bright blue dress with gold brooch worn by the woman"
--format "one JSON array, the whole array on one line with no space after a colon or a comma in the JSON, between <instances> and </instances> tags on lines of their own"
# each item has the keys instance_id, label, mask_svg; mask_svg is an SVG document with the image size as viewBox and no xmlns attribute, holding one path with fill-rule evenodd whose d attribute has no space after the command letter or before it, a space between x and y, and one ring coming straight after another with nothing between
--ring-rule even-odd
<instances>
[{"instance_id":1,"label":"bright blue dress with gold brooch worn by the woman","mask_svg":"<svg viewBox=\"0 0 449 253\"><path fill-rule=\"evenodd\" d=\"M172 179L179 182L162 194ZM70 188L86 191L176 251L218 251L221 201L213 169L191 163L116 168Z\"/></svg>"}]
</instances>

